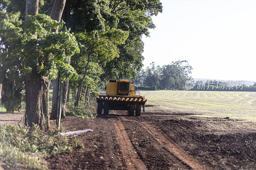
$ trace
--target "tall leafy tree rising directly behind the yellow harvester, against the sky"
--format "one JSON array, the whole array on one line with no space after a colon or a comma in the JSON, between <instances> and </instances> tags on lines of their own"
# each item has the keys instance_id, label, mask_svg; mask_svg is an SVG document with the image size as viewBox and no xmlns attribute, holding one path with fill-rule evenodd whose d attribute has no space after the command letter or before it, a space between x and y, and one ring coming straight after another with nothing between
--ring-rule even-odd
<instances>
[{"instance_id":1,"label":"tall leafy tree rising directly behind the yellow harvester, against the sky","mask_svg":"<svg viewBox=\"0 0 256 170\"><path fill-rule=\"evenodd\" d=\"M119 45L120 57L107 63L101 78L135 79L136 73L143 66L144 43L142 35L149 36L149 29L156 26L152 16L162 12L160 0L110 0L111 13L118 18L117 28L128 31L125 44Z\"/></svg>"}]
</instances>

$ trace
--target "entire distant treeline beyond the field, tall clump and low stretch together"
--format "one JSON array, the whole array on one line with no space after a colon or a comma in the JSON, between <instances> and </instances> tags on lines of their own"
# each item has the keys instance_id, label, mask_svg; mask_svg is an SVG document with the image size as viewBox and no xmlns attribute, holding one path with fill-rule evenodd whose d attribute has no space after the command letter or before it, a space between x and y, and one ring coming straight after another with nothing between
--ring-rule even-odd
<instances>
[{"instance_id":1,"label":"entire distant treeline beyond the field, tall clump and low stretch together","mask_svg":"<svg viewBox=\"0 0 256 170\"><path fill-rule=\"evenodd\" d=\"M187 61L177 61L164 66L151 63L142 69L133 81L138 90L196 90L256 92L256 83L246 86L243 81L196 81L189 76L192 67Z\"/></svg>"}]
</instances>

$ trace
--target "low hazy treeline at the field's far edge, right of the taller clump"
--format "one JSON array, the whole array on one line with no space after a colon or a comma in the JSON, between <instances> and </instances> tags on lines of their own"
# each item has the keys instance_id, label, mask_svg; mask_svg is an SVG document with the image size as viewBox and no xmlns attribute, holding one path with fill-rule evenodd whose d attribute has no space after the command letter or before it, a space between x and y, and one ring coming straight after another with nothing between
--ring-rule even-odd
<instances>
[{"instance_id":1,"label":"low hazy treeline at the field's far edge, right of the taller clump","mask_svg":"<svg viewBox=\"0 0 256 170\"><path fill-rule=\"evenodd\" d=\"M194 84L194 88L192 88L191 90L256 92L256 83L254 83L254 85L247 86L244 85L243 81L197 81Z\"/></svg>"}]
</instances>

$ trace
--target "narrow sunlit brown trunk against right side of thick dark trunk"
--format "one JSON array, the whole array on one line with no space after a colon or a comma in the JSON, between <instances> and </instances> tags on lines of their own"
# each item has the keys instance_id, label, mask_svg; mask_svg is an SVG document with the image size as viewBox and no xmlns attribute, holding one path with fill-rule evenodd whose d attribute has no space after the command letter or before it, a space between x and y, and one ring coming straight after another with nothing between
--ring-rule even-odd
<instances>
[{"instance_id":1,"label":"narrow sunlit brown trunk against right side of thick dark trunk","mask_svg":"<svg viewBox=\"0 0 256 170\"><path fill-rule=\"evenodd\" d=\"M48 77L43 77L41 79L43 85L42 92L42 114L44 116L44 128L49 130L50 128L50 116L49 116L49 89L50 89L50 81Z\"/></svg>"}]
</instances>

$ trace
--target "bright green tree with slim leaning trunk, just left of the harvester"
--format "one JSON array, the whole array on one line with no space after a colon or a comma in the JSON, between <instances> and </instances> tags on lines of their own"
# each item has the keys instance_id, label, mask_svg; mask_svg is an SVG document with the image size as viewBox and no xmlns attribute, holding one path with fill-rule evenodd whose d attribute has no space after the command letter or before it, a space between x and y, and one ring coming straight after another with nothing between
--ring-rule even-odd
<instances>
[{"instance_id":1,"label":"bright green tree with slim leaning trunk, just left of the harvester","mask_svg":"<svg viewBox=\"0 0 256 170\"><path fill-rule=\"evenodd\" d=\"M84 80L88 76L88 67L92 65L100 67L98 63L107 63L119 57L116 45L124 43L127 37L128 32L114 28L100 33L98 37L88 33L76 34L77 41L83 45L80 46L80 54L75 55L75 61L72 63L78 74L81 74L77 82L75 105L78 105L81 99Z\"/></svg>"}]
</instances>

